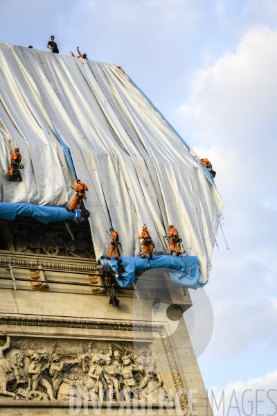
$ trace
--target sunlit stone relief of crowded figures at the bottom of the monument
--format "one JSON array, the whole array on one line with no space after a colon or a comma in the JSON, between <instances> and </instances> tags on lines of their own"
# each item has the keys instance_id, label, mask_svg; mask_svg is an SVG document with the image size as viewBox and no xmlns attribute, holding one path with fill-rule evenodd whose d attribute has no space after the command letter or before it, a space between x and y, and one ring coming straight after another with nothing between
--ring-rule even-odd
<instances>
[{"instance_id":1,"label":"sunlit stone relief of crowded figures at the bottom of the monument","mask_svg":"<svg viewBox=\"0 0 277 416\"><path fill-rule=\"evenodd\" d=\"M28 338L0 333L0 401L172 401L152 343Z\"/></svg>"}]
</instances>

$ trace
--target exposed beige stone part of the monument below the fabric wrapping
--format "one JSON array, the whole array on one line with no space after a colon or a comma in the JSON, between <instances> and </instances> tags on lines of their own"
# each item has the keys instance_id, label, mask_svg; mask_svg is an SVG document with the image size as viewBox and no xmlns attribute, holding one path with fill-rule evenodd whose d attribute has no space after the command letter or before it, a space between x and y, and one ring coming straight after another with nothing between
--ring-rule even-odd
<instances>
[{"instance_id":1,"label":"exposed beige stone part of the monument below the fabric wrapping","mask_svg":"<svg viewBox=\"0 0 277 416\"><path fill-rule=\"evenodd\" d=\"M74 241L21 217L0 232L1 415L212 415L186 289L161 270L119 288L96 272L85 221Z\"/></svg>"}]
</instances>

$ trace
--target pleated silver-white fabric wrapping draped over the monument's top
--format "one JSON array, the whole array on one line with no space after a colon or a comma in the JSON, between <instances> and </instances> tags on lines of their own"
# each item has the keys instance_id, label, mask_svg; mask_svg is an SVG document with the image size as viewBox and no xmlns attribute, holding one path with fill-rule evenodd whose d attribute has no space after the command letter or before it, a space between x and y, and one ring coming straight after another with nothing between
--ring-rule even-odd
<instances>
[{"instance_id":1,"label":"pleated silver-white fabric wrapping draped over the monument's top","mask_svg":"<svg viewBox=\"0 0 277 416\"><path fill-rule=\"evenodd\" d=\"M76 174L89 187L87 209L99 259L112 225L124 256L138 256L148 225L168 252L168 224L199 259L200 283L211 256L223 204L204 169L129 77L111 64L35 49L0 46L0 198L65 207ZM10 151L20 148L22 182L8 182Z\"/></svg>"}]
</instances>

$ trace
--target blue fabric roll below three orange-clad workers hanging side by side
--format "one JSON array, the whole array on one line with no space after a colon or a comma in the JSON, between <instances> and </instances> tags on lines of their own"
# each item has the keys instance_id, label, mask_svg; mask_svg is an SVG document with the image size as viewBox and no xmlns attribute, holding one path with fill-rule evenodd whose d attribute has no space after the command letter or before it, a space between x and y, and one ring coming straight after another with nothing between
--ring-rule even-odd
<instances>
[{"instance_id":1,"label":"blue fabric roll below three orange-clad workers hanging side by side","mask_svg":"<svg viewBox=\"0 0 277 416\"><path fill-rule=\"evenodd\" d=\"M100 260L102 268L116 276L121 287L131 286L139 272L146 270L163 269L175 284L186 288L197 289L199 286L198 260L195 256L185 254L177 256L154 256L152 260L147 257L120 257L123 261L125 273L118 273L118 262L112 258L109 261ZM98 266L100 268L100 266Z\"/></svg>"}]
</instances>

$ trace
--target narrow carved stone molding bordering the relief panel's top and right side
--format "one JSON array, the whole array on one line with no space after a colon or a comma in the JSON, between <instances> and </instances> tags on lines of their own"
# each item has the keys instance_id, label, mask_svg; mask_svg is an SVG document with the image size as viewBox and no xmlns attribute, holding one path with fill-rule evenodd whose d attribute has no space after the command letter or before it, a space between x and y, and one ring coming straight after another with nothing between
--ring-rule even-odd
<instances>
[{"instance_id":1,"label":"narrow carved stone molding bordering the relief panel's top and right side","mask_svg":"<svg viewBox=\"0 0 277 416\"><path fill-rule=\"evenodd\" d=\"M32 318L23 316L5 316L0 315L0 324L6 325L26 325L36 327L62 327L62 328L84 328L84 329L104 329L116 331L148 331L159 332L161 343L170 367L170 372L179 396L180 406L184 415L191 415L188 397L186 394L184 382L177 365L174 351L170 343L168 331L164 324L148 324L141 322L116 322L116 321L90 321L90 320L73 320L59 318Z\"/></svg>"}]
</instances>

